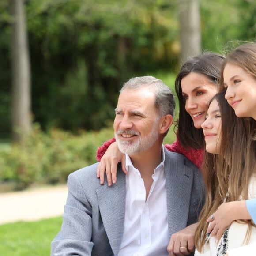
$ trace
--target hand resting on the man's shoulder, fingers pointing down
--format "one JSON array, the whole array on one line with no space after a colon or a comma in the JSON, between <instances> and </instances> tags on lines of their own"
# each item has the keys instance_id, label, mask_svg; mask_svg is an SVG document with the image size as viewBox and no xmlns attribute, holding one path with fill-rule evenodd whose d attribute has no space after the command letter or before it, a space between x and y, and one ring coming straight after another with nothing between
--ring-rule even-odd
<instances>
[{"instance_id":1,"label":"hand resting on the man's shoulder, fingers pointing down","mask_svg":"<svg viewBox=\"0 0 256 256\"><path fill-rule=\"evenodd\" d=\"M121 162L122 170L127 174L125 168L125 154L121 153L117 147L117 143L112 143L105 154L103 155L98 168L97 168L97 177L100 179L100 183L104 183L105 173L107 176L108 185L111 186L117 181L117 164Z\"/></svg>"}]
</instances>

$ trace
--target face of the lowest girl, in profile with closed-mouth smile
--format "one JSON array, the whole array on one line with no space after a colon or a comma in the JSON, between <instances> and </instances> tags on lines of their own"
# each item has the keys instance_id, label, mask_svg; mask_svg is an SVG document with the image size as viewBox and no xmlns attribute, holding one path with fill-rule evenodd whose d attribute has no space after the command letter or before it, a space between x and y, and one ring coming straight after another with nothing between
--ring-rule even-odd
<instances>
[{"instance_id":1,"label":"face of the lowest girl, in profile with closed-mouth smile","mask_svg":"<svg viewBox=\"0 0 256 256\"><path fill-rule=\"evenodd\" d=\"M209 105L202 128L206 151L211 154L219 154L221 147L221 113L216 99Z\"/></svg>"}]
</instances>

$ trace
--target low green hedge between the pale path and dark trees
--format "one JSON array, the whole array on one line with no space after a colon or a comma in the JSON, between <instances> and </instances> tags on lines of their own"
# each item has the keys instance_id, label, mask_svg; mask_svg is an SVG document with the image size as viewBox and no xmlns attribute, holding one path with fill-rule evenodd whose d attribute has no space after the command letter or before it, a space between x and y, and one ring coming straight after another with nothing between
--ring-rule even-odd
<instances>
[{"instance_id":1,"label":"low green hedge between the pale path and dark trees","mask_svg":"<svg viewBox=\"0 0 256 256\"><path fill-rule=\"evenodd\" d=\"M97 148L112 137L112 128L73 135L35 127L25 143L0 150L0 182L15 182L17 189L66 182L69 173L96 162Z\"/></svg>"}]
</instances>

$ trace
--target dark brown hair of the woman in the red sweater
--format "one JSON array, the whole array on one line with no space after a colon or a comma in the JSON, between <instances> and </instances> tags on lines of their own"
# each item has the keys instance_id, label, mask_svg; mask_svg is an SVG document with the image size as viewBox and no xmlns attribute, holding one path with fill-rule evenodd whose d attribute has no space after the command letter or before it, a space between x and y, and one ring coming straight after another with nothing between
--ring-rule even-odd
<instances>
[{"instance_id":1,"label":"dark brown hair of the woman in the red sweater","mask_svg":"<svg viewBox=\"0 0 256 256\"><path fill-rule=\"evenodd\" d=\"M185 148L200 149L204 147L203 130L194 126L193 120L185 109L185 100L181 90L181 80L191 72L205 75L218 87L220 71L224 56L218 53L205 52L199 56L189 59L182 66L175 80L175 91L179 99L179 118L175 127L177 136Z\"/></svg>"}]
</instances>

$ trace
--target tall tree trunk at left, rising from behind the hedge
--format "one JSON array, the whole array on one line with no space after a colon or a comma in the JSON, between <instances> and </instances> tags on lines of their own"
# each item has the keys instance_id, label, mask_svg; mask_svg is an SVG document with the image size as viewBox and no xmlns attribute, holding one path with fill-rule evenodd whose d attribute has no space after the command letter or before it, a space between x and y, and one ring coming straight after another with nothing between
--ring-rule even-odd
<instances>
[{"instance_id":1,"label":"tall tree trunk at left, rising from behind the hedge","mask_svg":"<svg viewBox=\"0 0 256 256\"><path fill-rule=\"evenodd\" d=\"M21 142L31 132L30 113L30 61L26 30L24 0L11 0L11 125L16 142Z\"/></svg>"}]
</instances>

